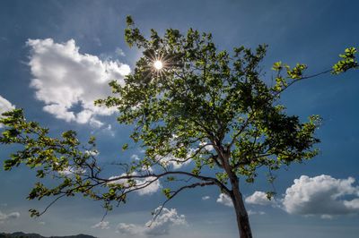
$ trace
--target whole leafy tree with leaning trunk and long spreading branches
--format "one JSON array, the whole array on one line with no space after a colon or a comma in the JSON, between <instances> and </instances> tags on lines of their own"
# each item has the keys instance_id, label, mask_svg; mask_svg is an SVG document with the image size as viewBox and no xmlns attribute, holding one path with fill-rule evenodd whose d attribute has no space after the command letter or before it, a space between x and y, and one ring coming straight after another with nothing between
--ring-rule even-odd
<instances>
[{"instance_id":1,"label":"whole leafy tree with leaning trunk and long spreading branches","mask_svg":"<svg viewBox=\"0 0 359 238\"><path fill-rule=\"evenodd\" d=\"M186 35L169 29L163 37L151 30L147 39L130 17L125 37L143 56L124 83L109 83L113 95L96 104L116 106L118 122L135 125L131 138L141 143L144 157L130 163L119 161L115 166L120 175L106 177L96 158L93 137L87 147L73 131L51 138L47 128L26 121L22 109L14 109L0 119L6 126L0 143L20 144L22 149L4 161L4 169L25 164L36 170L39 181L56 178L54 187L36 183L28 197L55 196L49 206L80 193L103 201L110 210L114 203L125 203L128 193L166 180L174 185L162 190L167 198L163 208L180 191L217 186L232 200L240 237L252 237L240 178L253 183L258 168L266 166L272 182L271 171L318 153L313 146L320 141L314 134L320 116L311 115L302 123L298 116L286 115L278 99L295 82L358 68L356 49L347 48L332 69L309 76L304 74L305 64L290 67L277 62L272 68L275 82L270 83L262 80L259 69L266 45L254 52L236 47L230 55L217 50L211 34L192 29ZM192 167L180 167L185 164ZM269 200L273 195L267 192ZM47 209L31 209L31 216L40 216ZM160 212L156 210L154 217Z\"/></svg>"}]
</instances>

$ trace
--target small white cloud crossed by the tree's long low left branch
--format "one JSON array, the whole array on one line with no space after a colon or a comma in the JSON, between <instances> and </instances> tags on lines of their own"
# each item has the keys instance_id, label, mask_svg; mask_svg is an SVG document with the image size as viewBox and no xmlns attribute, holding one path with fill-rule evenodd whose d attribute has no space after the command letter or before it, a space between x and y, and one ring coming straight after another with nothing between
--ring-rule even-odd
<instances>
[{"instance_id":1,"label":"small white cloud crossed by the tree's long low left branch","mask_svg":"<svg viewBox=\"0 0 359 238\"><path fill-rule=\"evenodd\" d=\"M149 168L149 171L150 170L151 170L151 168ZM132 175L136 175L136 173L134 172L134 173L132 173ZM113 181L113 182L109 182L109 184L111 184L111 183L124 184L125 186L128 186L127 179L119 179L122 176L126 176L126 174L121 174L119 176L111 176L111 177L109 177L109 180L118 178L118 180ZM141 196L142 195L151 195L154 192L159 191L160 188L162 187L162 185L160 183L160 180L157 179L156 177L153 177L153 176L148 176L148 177L145 177L145 178L137 178L137 179L135 179L135 182L136 182L136 186L132 187L131 189L134 189L136 187L137 188L141 187L141 189L136 190L136 192ZM146 184L148 184L148 185L146 185Z\"/></svg>"}]
</instances>

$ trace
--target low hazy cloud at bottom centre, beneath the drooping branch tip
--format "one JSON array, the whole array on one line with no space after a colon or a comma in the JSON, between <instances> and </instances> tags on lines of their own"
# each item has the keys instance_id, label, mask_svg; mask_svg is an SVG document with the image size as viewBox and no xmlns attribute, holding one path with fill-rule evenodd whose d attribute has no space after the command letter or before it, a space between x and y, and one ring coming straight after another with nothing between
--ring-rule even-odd
<instances>
[{"instance_id":1,"label":"low hazy cloud at bottom centre, beneath the drooping branch tip","mask_svg":"<svg viewBox=\"0 0 359 238\"><path fill-rule=\"evenodd\" d=\"M158 212L161 207L156 208ZM117 232L120 234L131 234L136 236L157 236L170 233L173 225L186 225L184 215L179 215L175 208L163 208L162 213L153 221L148 221L144 225L120 223L117 226ZM150 226L151 225L151 226Z\"/></svg>"}]
</instances>

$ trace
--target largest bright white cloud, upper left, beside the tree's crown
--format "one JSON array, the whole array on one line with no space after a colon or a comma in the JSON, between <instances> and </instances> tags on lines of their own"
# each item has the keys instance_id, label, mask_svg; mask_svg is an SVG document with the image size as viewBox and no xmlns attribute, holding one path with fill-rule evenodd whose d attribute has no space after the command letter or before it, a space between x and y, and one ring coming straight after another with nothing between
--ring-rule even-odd
<instances>
[{"instance_id":1,"label":"largest bright white cloud, upper left, beside the tree's crown","mask_svg":"<svg viewBox=\"0 0 359 238\"><path fill-rule=\"evenodd\" d=\"M74 39L55 43L52 38L29 39L29 65L36 98L45 103L44 111L66 122L90 123L100 127L98 115L111 115L115 109L94 106L93 101L110 95L109 81L130 72L127 64L81 54Z\"/></svg>"}]
</instances>

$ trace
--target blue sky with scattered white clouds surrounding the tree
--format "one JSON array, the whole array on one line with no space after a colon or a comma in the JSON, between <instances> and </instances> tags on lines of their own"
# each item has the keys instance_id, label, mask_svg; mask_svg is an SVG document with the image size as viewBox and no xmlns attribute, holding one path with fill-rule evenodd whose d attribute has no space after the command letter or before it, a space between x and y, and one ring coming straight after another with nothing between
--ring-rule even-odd
<instances>
[{"instance_id":1,"label":"blue sky with scattered white clouds surrounding the tree","mask_svg":"<svg viewBox=\"0 0 359 238\"><path fill-rule=\"evenodd\" d=\"M346 47L359 47L359 3L353 1L1 1L0 112L24 108L29 120L51 134L74 130L95 135L104 164L141 157L130 147L131 126L116 113L93 106L109 95L108 81L133 71L141 52L124 41L126 16L148 34L168 28L212 32L220 49L269 45L262 66L270 78L277 61L309 65L321 72ZM289 115L305 120L320 115L320 155L276 172L276 197L265 171L253 184L241 184L254 237L355 238L359 234L359 71L322 75L288 89L281 102ZM0 125L1 126L1 125ZM3 128L4 129L4 128ZM2 130L2 129L0 129ZM13 151L0 145L0 160ZM115 168L109 168L116 173ZM0 232L42 235L92 234L97 237L238 237L232 204L215 188L185 191L147 228L151 211L164 197L163 184L130 196L101 222L101 204L81 197L59 200L31 218L30 208L50 200L26 196L34 173L26 167L0 170Z\"/></svg>"}]
</instances>

